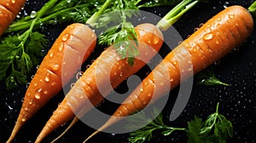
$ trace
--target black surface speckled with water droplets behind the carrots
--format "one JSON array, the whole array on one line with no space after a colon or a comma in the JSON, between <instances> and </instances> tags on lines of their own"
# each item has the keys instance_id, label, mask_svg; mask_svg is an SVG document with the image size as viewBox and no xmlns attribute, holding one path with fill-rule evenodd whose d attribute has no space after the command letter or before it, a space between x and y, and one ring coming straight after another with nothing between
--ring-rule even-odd
<instances>
[{"instance_id":1,"label":"black surface speckled with water droplets behind the carrots","mask_svg":"<svg viewBox=\"0 0 256 143\"><path fill-rule=\"evenodd\" d=\"M42 7L45 0L42 2L30 1L26 3L25 10L28 14L32 9L38 10ZM190 9L187 14L174 24L176 30L181 36L186 38L192 34L195 27L201 23L205 23L214 14L217 14L225 6L241 5L247 8L253 0L212 0L209 3L199 3L193 9ZM154 9L144 9L160 16L166 14L172 7L160 7ZM48 26L44 29L44 33L49 37L49 46L54 42L55 38L67 26ZM58 28L56 28L58 27ZM168 40L166 38L166 40ZM172 40L172 39L170 39ZM173 122L169 121L169 115L172 111L175 95L170 97L163 111L164 122L173 127L187 127L187 122L194 116L206 117L215 112L217 103L219 102L219 112L230 119L234 126L234 137L228 142L255 142L256 141L256 31L247 40L239 45L236 50L224 56L218 61L218 64L213 64L214 73L224 83L230 83L229 87L225 86L202 86L197 84L195 76L195 84L192 94L190 95L189 103ZM165 53L165 49L160 52ZM92 54L90 60L95 59L96 54ZM86 63L85 63L86 64ZM36 69L34 69L34 72ZM141 71L143 72L143 70ZM16 118L20 112L23 96L26 92L26 86L20 85L17 89L6 90L4 83L0 84L0 142L5 142L9 138L9 134L15 125ZM174 89L171 94L176 94L177 89ZM16 135L15 143L33 142L40 130L44 127L44 123L52 115L59 102L64 97L63 92L60 92L55 98L42 108L34 117L32 117L25 126L20 129ZM102 105L102 108L113 112L113 106L108 106L109 103ZM110 104L111 105L111 104ZM63 125L60 129L49 134L44 142L50 142L57 135L61 134L67 125ZM58 142L82 142L89 134L94 132L94 129L86 126L84 123L77 123L73 129L70 129L61 140ZM100 133L92 138L90 142L128 142L128 134L106 134ZM186 134L183 132L174 132L169 136L162 136L155 132L154 139L151 142L186 142Z\"/></svg>"}]
</instances>

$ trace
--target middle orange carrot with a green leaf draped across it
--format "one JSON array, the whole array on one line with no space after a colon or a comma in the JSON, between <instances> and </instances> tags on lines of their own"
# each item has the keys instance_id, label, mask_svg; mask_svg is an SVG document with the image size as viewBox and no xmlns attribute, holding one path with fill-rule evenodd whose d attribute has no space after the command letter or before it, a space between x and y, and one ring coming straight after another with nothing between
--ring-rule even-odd
<instances>
[{"instance_id":1,"label":"middle orange carrot with a green leaf draped across it","mask_svg":"<svg viewBox=\"0 0 256 143\"><path fill-rule=\"evenodd\" d=\"M111 88L114 89L127 77L141 69L145 65L144 61L150 60L159 51L163 43L163 35L159 28L151 24L142 24L135 27L135 30L140 55L134 60L134 64L130 66L127 59L122 59L113 45L104 50L66 94L65 99L38 135L36 142L40 142L51 131L72 119L75 116L73 112L82 111L84 114L92 107L88 105L99 104L103 96L109 94ZM98 87L106 87L108 80L112 87L99 91Z\"/></svg>"}]
</instances>

